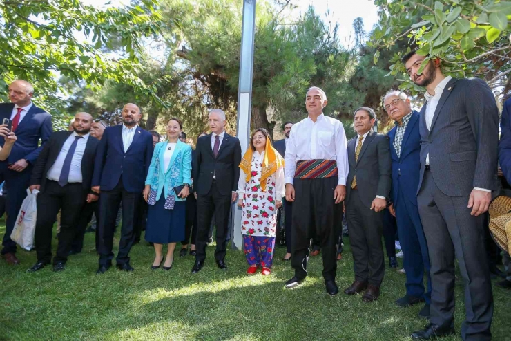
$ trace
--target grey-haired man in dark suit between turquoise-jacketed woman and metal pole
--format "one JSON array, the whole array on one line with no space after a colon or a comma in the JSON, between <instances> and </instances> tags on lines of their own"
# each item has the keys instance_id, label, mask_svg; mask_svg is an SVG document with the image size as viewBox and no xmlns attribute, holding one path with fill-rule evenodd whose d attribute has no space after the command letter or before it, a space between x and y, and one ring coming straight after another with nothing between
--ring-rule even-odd
<instances>
[{"instance_id":1,"label":"grey-haired man in dark suit between turquoise-jacketed woman and metal pole","mask_svg":"<svg viewBox=\"0 0 511 341\"><path fill-rule=\"evenodd\" d=\"M198 273L206 259L206 241L209 224L215 215L215 259L220 269L226 269L225 245L231 203L236 200L240 177L240 140L225 132L225 113L220 109L209 111L211 133L197 139L193 159L193 185L197 199L197 255L192 273Z\"/></svg>"}]
</instances>

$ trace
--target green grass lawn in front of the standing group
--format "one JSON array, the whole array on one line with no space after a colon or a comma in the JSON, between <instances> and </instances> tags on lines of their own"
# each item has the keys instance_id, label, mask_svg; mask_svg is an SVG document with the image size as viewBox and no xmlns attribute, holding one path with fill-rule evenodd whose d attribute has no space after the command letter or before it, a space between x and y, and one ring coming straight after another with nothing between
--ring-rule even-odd
<instances>
[{"instance_id":1,"label":"green grass lawn in front of the standing group","mask_svg":"<svg viewBox=\"0 0 511 341\"><path fill-rule=\"evenodd\" d=\"M0 226L0 235L5 228ZM116 238L115 241L118 241ZM342 291L353 280L349 241L338 262ZM21 266L0 261L0 340L411 340L425 320L421 306L398 308L405 277L387 268L377 302L340 293L329 297L321 277L321 257L312 257L309 277L299 288L285 289L293 276L276 248L273 273L245 274L240 251L229 250L229 269L219 270L214 248L202 271L191 274L193 257L177 257L172 270L150 270L153 248L144 241L131 250L133 273L110 268L96 275L94 235L86 234L81 255L66 270L46 267L26 273L35 252L17 253ZM179 248L179 246L178 246ZM55 239L54 239L55 249ZM115 248L117 250L117 248ZM387 264L388 266L388 264ZM494 287L494 340L511 338L511 292ZM461 279L456 282L456 337L465 318Z\"/></svg>"}]
</instances>

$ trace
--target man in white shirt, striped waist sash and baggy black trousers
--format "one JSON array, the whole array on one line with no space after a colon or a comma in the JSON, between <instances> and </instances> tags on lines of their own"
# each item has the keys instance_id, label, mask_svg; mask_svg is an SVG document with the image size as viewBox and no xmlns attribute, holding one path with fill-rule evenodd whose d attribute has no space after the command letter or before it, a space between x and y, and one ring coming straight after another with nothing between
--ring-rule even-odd
<instances>
[{"instance_id":1,"label":"man in white shirt, striped waist sash and baggy black trousers","mask_svg":"<svg viewBox=\"0 0 511 341\"><path fill-rule=\"evenodd\" d=\"M337 243L342 202L346 196L348 160L343 124L323 114L327 95L312 87L305 96L309 116L291 130L285 154L286 200L293 202L291 266L287 288L307 277L309 243L320 240L323 277L329 295L339 291L336 279Z\"/></svg>"}]
</instances>

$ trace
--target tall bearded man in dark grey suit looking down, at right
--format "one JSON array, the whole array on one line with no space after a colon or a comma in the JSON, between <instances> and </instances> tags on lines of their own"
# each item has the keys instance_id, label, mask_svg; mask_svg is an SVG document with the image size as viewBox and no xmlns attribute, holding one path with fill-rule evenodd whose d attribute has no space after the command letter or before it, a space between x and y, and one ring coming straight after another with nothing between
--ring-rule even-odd
<instances>
[{"instance_id":1,"label":"tall bearded man in dark grey suit looking down, at right","mask_svg":"<svg viewBox=\"0 0 511 341\"><path fill-rule=\"evenodd\" d=\"M483 244L484 212L496 185L499 111L488 84L445 77L440 59L407 53L412 82L427 90L421 109L418 212L430 253L430 324L412 333L430 340L454 333L454 257L465 282L463 340L490 340L492 284Z\"/></svg>"}]
</instances>

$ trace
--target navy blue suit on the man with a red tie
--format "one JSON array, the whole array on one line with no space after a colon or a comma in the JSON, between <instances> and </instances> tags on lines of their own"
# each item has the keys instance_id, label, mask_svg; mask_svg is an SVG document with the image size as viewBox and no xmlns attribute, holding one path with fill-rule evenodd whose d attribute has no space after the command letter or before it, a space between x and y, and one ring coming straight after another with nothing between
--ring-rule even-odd
<instances>
[{"instance_id":1,"label":"navy blue suit on the man with a red tie","mask_svg":"<svg viewBox=\"0 0 511 341\"><path fill-rule=\"evenodd\" d=\"M0 103L0 122L4 118L10 119L13 103ZM0 183L6 181L9 190L6 211L8 214L6 222L6 234L3 235L3 249L1 254L16 252L16 243L10 239L12 228L18 216L19 209L23 199L27 196L27 188L32 173L32 165L35 164L37 156L41 153L43 145L48 141L52 134L52 121L49 113L32 104L28 113L19 122L15 131L17 140L12 146L12 151L5 161L0 161ZM41 145L39 146L39 139ZM0 136L0 145L3 146L5 140ZM8 169L8 164L15 163L18 160L26 158L28 167L22 172L15 172Z\"/></svg>"}]
</instances>

